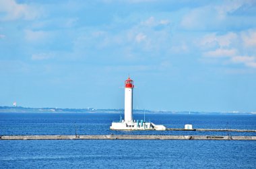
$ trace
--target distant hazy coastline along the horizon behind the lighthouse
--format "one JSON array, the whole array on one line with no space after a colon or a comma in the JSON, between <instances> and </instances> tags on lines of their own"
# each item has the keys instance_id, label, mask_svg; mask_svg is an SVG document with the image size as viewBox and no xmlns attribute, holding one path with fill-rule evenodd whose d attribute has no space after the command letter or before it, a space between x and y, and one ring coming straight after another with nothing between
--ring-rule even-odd
<instances>
[{"instance_id":1,"label":"distant hazy coastline along the horizon behind the lighthouse","mask_svg":"<svg viewBox=\"0 0 256 169\"><path fill-rule=\"evenodd\" d=\"M226 115L256 115L256 112L195 112L168 110L133 110L136 114L226 114ZM22 106L0 106L0 113L122 113L123 109L94 109L94 108L26 108Z\"/></svg>"}]
</instances>

